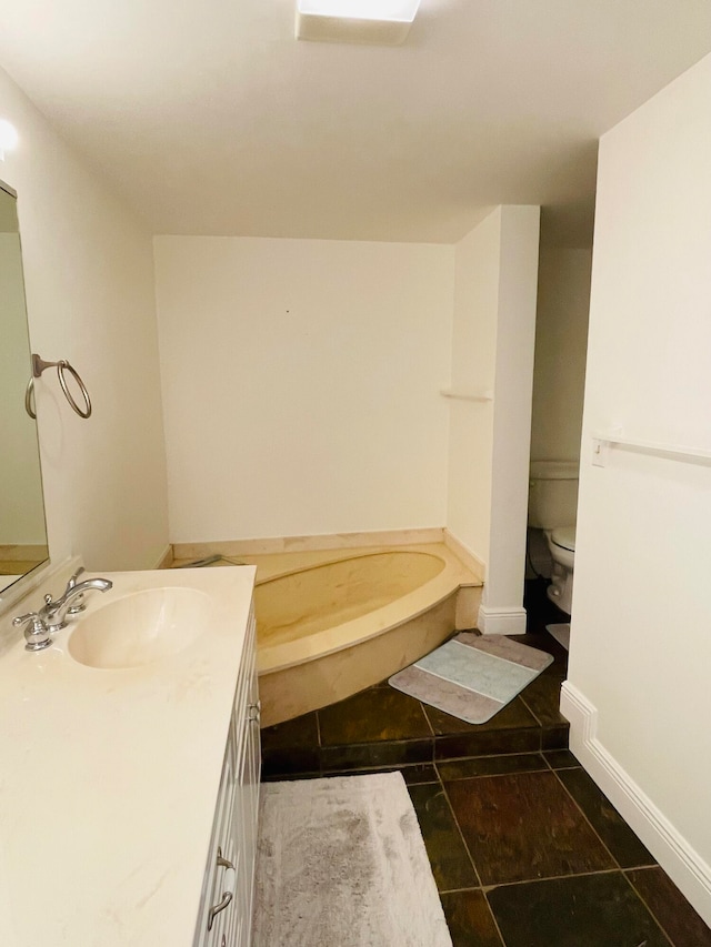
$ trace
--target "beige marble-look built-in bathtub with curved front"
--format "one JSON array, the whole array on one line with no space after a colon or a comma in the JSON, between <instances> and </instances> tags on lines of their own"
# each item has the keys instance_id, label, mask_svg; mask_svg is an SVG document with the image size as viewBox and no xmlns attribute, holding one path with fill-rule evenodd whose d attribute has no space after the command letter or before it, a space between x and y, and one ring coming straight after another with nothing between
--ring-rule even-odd
<instances>
[{"instance_id":1,"label":"beige marble-look built-in bathtub with curved front","mask_svg":"<svg viewBox=\"0 0 711 947\"><path fill-rule=\"evenodd\" d=\"M481 580L440 543L244 558L258 566L262 726L407 667L472 627L481 598Z\"/></svg>"}]
</instances>

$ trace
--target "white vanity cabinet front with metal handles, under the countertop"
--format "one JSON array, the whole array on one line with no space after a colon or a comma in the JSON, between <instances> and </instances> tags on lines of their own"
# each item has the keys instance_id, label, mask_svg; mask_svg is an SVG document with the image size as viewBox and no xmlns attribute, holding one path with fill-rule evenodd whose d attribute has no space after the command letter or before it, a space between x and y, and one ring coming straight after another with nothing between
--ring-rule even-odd
<instances>
[{"instance_id":1,"label":"white vanity cabinet front with metal handles, under the countertop","mask_svg":"<svg viewBox=\"0 0 711 947\"><path fill-rule=\"evenodd\" d=\"M250 611L193 947L251 945L259 808L259 692Z\"/></svg>"}]
</instances>

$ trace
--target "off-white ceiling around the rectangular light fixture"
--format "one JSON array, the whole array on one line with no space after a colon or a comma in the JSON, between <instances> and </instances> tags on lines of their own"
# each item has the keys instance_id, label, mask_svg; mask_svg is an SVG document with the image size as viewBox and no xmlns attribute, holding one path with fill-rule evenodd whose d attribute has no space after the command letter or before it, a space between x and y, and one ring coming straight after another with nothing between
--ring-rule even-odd
<instances>
[{"instance_id":1,"label":"off-white ceiling around the rectangular light fixture","mask_svg":"<svg viewBox=\"0 0 711 947\"><path fill-rule=\"evenodd\" d=\"M591 241L597 139L711 51L709 0L421 0L402 47L293 0L2 0L0 66L154 233Z\"/></svg>"}]
</instances>

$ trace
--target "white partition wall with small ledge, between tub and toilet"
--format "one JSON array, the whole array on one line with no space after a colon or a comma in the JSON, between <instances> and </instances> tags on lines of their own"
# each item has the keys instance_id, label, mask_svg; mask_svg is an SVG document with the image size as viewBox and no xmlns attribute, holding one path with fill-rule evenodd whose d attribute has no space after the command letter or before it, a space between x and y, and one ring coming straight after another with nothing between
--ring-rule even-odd
<instances>
[{"instance_id":1,"label":"white partition wall with small ledge, between tub and toilet","mask_svg":"<svg viewBox=\"0 0 711 947\"><path fill-rule=\"evenodd\" d=\"M448 530L487 565L479 627L525 629L523 575L540 211L500 206L457 248Z\"/></svg>"}]
</instances>

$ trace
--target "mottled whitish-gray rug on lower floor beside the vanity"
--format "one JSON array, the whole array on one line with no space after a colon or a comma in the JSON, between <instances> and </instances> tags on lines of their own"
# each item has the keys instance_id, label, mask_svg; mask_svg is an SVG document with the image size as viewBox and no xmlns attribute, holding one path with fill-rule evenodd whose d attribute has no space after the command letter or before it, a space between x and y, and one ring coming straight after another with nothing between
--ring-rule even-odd
<instances>
[{"instance_id":1,"label":"mottled whitish-gray rug on lower floor beside the vanity","mask_svg":"<svg viewBox=\"0 0 711 947\"><path fill-rule=\"evenodd\" d=\"M400 773L261 792L254 947L452 947Z\"/></svg>"}]
</instances>

